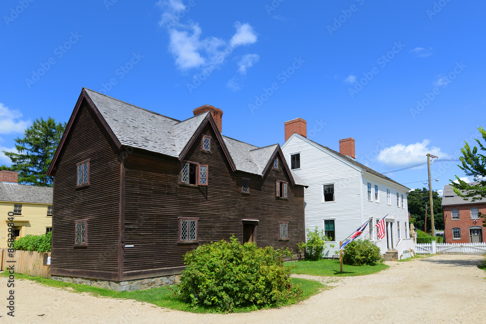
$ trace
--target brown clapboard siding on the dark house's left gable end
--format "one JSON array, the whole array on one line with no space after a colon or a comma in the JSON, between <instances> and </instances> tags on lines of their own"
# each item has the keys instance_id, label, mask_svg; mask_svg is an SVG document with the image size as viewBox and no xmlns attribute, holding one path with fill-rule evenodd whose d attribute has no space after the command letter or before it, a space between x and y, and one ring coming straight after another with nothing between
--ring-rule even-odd
<instances>
[{"instance_id":1,"label":"brown clapboard siding on the dark house's left gable end","mask_svg":"<svg viewBox=\"0 0 486 324\"><path fill-rule=\"evenodd\" d=\"M118 273L119 150L83 102L57 164L53 188L52 274L113 278ZM76 164L90 159L90 185L76 188ZM74 221L87 219L87 247L74 247ZM98 274L96 274L98 273Z\"/></svg>"}]
</instances>

